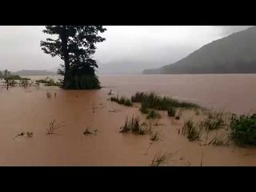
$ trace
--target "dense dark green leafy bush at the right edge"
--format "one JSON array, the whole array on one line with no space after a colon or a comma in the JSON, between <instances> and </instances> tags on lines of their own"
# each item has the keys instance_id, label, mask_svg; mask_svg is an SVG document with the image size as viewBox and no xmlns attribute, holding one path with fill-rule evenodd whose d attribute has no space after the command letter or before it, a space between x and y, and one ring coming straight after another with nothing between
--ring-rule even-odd
<instances>
[{"instance_id":1,"label":"dense dark green leafy bush at the right edge","mask_svg":"<svg viewBox=\"0 0 256 192\"><path fill-rule=\"evenodd\" d=\"M230 137L238 145L256 146L256 114L233 114L230 121Z\"/></svg>"}]
</instances>

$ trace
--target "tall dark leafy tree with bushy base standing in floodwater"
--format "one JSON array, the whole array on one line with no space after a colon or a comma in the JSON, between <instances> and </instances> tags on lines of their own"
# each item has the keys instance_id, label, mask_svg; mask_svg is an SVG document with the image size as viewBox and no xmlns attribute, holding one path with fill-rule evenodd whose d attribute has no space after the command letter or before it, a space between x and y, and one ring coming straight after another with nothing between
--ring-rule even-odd
<instances>
[{"instance_id":1,"label":"tall dark leafy tree with bushy base standing in floodwater","mask_svg":"<svg viewBox=\"0 0 256 192\"><path fill-rule=\"evenodd\" d=\"M106 28L102 26L46 26L43 33L55 35L41 42L42 50L52 57L64 61L58 74L64 76L64 89L97 89L100 87L95 68L97 62L92 58L97 42L106 39L98 35Z\"/></svg>"}]
</instances>

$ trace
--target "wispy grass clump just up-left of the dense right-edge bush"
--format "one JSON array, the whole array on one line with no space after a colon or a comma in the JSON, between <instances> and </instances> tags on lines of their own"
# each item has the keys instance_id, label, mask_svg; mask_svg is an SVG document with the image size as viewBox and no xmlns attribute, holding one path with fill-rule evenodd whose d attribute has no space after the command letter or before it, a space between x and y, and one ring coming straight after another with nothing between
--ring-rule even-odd
<instances>
[{"instance_id":1,"label":"wispy grass clump just up-left of the dense right-edge bush","mask_svg":"<svg viewBox=\"0 0 256 192\"><path fill-rule=\"evenodd\" d=\"M223 112L221 113L209 113L208 117L204 121L206 130L218 130L226 126L223 118Z\"/></svg>"}]
</instances>

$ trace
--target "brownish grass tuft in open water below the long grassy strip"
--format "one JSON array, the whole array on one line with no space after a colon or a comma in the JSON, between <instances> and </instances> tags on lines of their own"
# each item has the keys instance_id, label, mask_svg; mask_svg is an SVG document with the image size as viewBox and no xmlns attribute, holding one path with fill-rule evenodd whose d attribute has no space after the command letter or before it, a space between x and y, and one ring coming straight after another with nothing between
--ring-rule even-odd
<instances>
[{"instance_id":1,"label":"brownish grass tuft in open water below the long grassy strip","mask_svg":"<svg viewBox=\"0 0 256 192\"><path fill-rule=\"evenodd\" d=\"M145 123L140 124L139 117L137 116L136 118L134 118L134 115L130 119L126 117L125 124L120 127L121 133L131 132L133 134L147 134L149 133L149 131L149 127L146 126Z\"/></svg>"}]
</instances>

